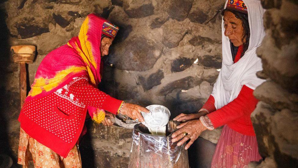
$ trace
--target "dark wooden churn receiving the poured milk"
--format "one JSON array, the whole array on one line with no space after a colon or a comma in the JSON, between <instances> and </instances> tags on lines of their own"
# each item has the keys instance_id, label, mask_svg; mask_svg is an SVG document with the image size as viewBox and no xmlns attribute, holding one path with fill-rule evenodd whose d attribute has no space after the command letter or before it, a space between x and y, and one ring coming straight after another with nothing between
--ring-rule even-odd
<instances>
[{"instance_id":1,"label":"dark wooden churn receiving the poured milk","mask_svg":"<svg viewBox=\"0 0 298 168\"><path fill-rule=\"evenodd\" d=\"M151 135L143 124L133 128L129 168L189 168L187 150L184 145L173 143L172 133L180 122L169 121L166 135Z\"/></svg>"}]
</instances>

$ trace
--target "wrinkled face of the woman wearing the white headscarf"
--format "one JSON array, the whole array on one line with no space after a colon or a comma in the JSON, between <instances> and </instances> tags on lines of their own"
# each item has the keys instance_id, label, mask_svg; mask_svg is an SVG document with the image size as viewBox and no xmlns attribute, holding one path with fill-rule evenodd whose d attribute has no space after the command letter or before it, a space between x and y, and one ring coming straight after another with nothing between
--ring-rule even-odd
<instances>
[{"instance_id":1,"label":"wrinkled face of the woman wearing the white headscarf","mask_svg":"<svg viewBox=\"0 0 298 168\"><path fill-rule=\"evenodd\" d=\"M245 43L245 31L242 26L242 20L238 19L234 13L225 11L224 28L224 35L229 37L231 43L233 43L235 47L239 47Z\"/></svg>"}]
</instances>

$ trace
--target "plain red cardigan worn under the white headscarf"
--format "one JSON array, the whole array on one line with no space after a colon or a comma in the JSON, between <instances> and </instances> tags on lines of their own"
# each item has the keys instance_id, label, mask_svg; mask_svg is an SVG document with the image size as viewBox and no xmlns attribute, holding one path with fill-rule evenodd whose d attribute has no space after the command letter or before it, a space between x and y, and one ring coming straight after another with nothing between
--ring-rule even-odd
<instances>
[{"instance_id":1,"label":"plain red cardigan worn under the white headscarf","mask_svg":"<svg viewBox=\"0 0 298 168\"><path fill-rule=\"evenodd\" d=\"M242 46L239 46L234 63L240 59L241 53ZM216 110L214 102L213 96L210 95L202 107L209 111L207 116L214 128L227 124L238 133L255 136L250 114L256 108L258 100L253 96L253 89L243 85L237 98L220 109Z\"/></svg>"}]
</instances>

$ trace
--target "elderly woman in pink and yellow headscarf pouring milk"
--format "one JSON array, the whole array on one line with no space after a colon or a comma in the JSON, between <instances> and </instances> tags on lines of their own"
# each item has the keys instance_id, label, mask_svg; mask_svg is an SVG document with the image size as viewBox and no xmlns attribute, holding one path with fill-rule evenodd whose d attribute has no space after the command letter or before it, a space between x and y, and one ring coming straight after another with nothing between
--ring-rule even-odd
<instances>
[{"instance_id":1,"label":"elderly woman in pink and yellow headscarf pouring milk","mask_svg":"<svg viewBox=\"0 0 298 168\"><path fill-rule=\"evenodd\" d=\"M140 112L149 112L146 108L97 89L100 59L108 54L117 32L116 25L89 14L78 37L42 60L18 119L19 164L26 167L33 159L35 167L82 167L77 142L87 110L97 123L110 122L105 110L144 120Z\"/></svg>"}]
</instances>

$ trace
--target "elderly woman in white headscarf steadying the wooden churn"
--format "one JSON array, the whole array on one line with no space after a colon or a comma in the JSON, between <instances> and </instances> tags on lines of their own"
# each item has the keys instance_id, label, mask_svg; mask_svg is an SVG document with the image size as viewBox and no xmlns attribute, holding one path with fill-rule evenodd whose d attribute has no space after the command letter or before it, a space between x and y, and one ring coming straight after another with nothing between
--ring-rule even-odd
<instances>
[{"instance_id":1,"label":"elderly woman in white headscarf steadying the wooden churn","mask_svg":"<svg viewBox=\"0 0 298 168\"><path fill-rule=\"evenodd\" d=\"M264 80L256 77L262 70L256 48L265 35L264 9L256 0L228 0L223 10L223 63L213 92L197 114L180 114L174 120L187 121L173 135L178 146L188 139L185 149L202 131L223 126L211 167L247 167L259 161L256 136L250 114L258 100L253 90Z\"/></svg>"}]
</instances>

